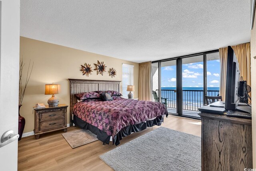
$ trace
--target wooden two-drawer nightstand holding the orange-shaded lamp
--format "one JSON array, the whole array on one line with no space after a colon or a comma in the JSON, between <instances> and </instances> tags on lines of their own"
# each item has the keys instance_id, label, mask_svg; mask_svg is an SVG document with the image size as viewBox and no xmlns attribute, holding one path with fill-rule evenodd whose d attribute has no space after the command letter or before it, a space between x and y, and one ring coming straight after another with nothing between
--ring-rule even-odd
<instances>
[{"instance_id":1,"label":"wooden two-drawer nightstand holding the orange-shaded lamp","mask_svg":"<svg viewBox=\"0 0 256 171\"><path fill-rule=\"evenodd\" d=\"M64 130L67 132L67 108L66 104L58 106L46 106L46 108L34 108L35 114L35 129L34 134L36 139L40 134Z\"/></svg>"}]
</instances>

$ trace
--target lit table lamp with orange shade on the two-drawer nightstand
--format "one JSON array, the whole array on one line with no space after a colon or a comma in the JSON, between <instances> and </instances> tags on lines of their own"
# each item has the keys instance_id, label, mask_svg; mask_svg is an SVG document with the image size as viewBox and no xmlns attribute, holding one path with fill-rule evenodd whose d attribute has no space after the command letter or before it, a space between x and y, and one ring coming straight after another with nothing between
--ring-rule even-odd
<instances>
[{"instance_id":1,"label":"lit table lamp with orange shade on the two-drawer nightstand","mask_svg":"<svg viewBox=\"0 0 256 171\"><path fill-rule=\"evenodd\" d=\"M49 106L58 106L59 100L54 96L54 94L59 94L60 85L58 84L47 84L45 85L44 94L52 94L52 97L48 99L47 103Z\"/></svg>"}]
</instances>

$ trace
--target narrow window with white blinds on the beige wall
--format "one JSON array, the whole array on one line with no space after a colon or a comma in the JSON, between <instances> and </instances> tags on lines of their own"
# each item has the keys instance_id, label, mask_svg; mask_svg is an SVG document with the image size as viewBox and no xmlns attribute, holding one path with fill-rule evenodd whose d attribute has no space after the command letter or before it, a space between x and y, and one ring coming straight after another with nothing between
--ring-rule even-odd
<instances>
[{"instance_id":1,"label":"narrow window with white blinds on the beige wall","mask_svg":"<svg viewBox=\"0 0 256 171\"><path fill-rule=\"evenodd\" d=\"M134 65L123 63L122 65L122 89L123 97L128 98L128 91L126 91L128 85L133 85L133 68Z\"/></svg>"}]
</instances>

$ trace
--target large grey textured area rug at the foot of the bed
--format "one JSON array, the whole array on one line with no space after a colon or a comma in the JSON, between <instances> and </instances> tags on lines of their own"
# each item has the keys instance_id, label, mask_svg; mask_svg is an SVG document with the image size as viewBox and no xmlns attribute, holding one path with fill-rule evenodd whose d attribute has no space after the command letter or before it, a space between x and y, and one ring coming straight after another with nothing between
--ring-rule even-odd
<instances>
[{"instance_id":1,"label":"large grey textured area rug at the foot of the bed","mask_svg":"<svg viewBox=\"0 0 256 171\"><path fill-rule=\"evenodd\" d=\"M115 171L200 171L201 138L160 127L100 159Z\"/></svg>"}]
</instances>

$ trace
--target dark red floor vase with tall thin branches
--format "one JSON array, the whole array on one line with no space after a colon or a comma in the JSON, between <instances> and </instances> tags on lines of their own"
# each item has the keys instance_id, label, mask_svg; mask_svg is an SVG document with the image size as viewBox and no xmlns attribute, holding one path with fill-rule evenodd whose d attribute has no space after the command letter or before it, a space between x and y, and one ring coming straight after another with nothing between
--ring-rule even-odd
<instances>
[{"instance_id":1,"label":"dark red floor vase with tall thin branches","mask_svg":"<svg viewBox=\"0 0 256 171\"><path fill-rule=\"evenodd\" d=\"M25 65L25 63L23 62L23 59L21 58L20 59L20 77L19 77L19 124L18 124L18 134L20 136L18 138L18 141L20 141L23 131L24 131L24 127L25 127L25 118L20 116L20 107L22 106L22 101L23 101L23 98L25 95L26 88L28 86L28 81L30 79L30 76L31 76L31 73L33 70L34 62L32 63L32 67L30 67L31 60L29 61L25 85L24 85L24 88L22 88L22 73L23 73L24 65Z\"/></svg>"}]
</instances>

